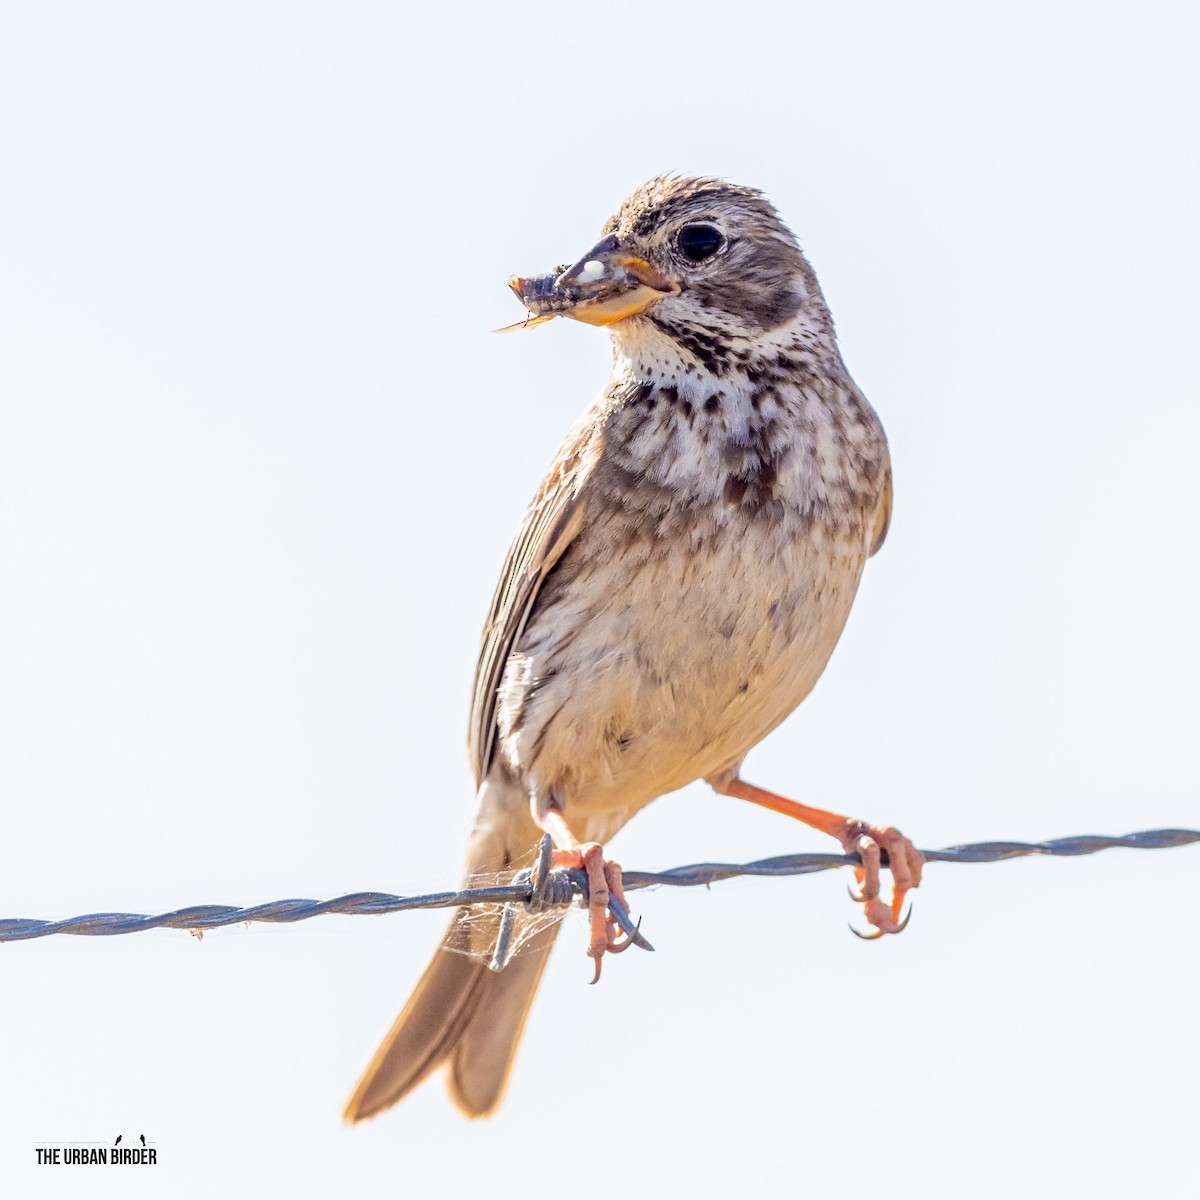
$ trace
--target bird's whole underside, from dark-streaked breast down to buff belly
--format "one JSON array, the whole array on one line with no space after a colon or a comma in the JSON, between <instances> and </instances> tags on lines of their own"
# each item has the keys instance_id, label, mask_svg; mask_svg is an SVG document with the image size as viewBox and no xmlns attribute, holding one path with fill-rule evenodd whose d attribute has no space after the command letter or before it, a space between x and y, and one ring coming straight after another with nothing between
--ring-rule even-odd
<instances>
[{"instance_id":1,"label":"bird's whole underside, from dark-streaked breast down to buff belly","mask_svg":"<svg viewBox=\"0 0 1200 1200\"><path fill-rule=\"evenodd\" d=\"M734 766L828 662L887 469L846 384L642 385L607 415L498 706L508 763L593 830Z\"/></svg>"}]
</instances>

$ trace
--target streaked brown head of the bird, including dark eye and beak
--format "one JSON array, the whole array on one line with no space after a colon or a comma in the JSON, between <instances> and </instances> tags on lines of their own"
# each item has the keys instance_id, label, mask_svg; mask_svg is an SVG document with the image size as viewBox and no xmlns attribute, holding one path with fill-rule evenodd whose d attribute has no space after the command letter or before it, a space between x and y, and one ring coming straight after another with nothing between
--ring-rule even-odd
<instances>
[{"instance_id":1,"label":"streaked brown head of the bird, including dark eye and beak","mask_svg":"<svg viewBox=\"0 0 1200 1200\"><path fill-rule=\"evenodd\" d=\"M614 340L654 326L684 349L754 342L797 318L830 330L791 230L754 188L660 176L630 196L570 266L509 286L534 318L606 325Z\"/></svg>"}]
</instances>

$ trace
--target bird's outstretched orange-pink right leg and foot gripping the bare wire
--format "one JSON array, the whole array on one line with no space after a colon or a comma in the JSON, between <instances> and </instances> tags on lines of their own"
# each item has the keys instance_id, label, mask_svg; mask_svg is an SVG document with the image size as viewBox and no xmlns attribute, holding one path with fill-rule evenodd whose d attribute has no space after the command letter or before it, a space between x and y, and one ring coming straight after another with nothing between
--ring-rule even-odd
<instances>
[{"instance_id":1,"label":"bird's outstretched orange-pink right leg and foot gripping the bare wire","mask_svg":"<svg viewBox=\"0 0 1200 1200\"><path fill-rule=\"evenodd\" d=\"M908 890L920 886L920 869L925 856L902 834L890 826L876 827L853 817L844 817L823 809L812 809L806 804L797 804L766 788L755 787L743 779L734 778L726 784L713 784L721 796L736 796L751 804L761 804L773 812L803 821L814 829L829 834L841 842L847 854L858 854L863 865L854 868L858 892L851 892L852 899L863 905L866 920L875 926L874 934L859 934L859 937L875 938L884 934L899 934L908 924L908 918L900 919L904 898ZM880 899L880 868L883 854L887 854L887 866L892 871L892 904ZM854 932L858 932L854 930Z\"/></svg>"}]
</instances>

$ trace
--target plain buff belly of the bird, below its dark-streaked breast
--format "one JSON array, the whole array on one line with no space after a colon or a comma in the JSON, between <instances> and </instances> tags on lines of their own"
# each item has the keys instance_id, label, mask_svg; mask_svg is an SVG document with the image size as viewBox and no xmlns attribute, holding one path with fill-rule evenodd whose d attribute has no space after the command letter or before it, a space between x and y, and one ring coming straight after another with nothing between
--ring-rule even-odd
<instances>
[{"instance_id":1,"label":"plain buff belly of the bird, below its dark-streaked breast","mask_svg":"<svg viewBox=\"0 0 1200 1200\"><path fill-rule=\"evenodd\" d=\"M686 536L589 521L500 688L510 766L575 811L624 814L737 763L808 695L865 550L803 521L694 515ZM595 834L593 834L595 835Z\"/></svg>"}]
</instances>

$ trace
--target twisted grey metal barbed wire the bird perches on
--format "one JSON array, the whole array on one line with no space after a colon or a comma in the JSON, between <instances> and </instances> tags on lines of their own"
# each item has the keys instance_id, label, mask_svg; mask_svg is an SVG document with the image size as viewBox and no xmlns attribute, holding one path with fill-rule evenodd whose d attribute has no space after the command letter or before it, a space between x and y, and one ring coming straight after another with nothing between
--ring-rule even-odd
<instances>
[{"instance_id":1,"label":"twisted grey metal barbed wire the bird perches on","mask_svg":"<svg viewBox=\"0 0 1200 1200\"><path fill-rule=\"evenodd\" d=\"M928 863L998 863L1027 854L1049 854L1074 858L1094 854L1102 850L1126 847L1129 850L1168 850L1200 841L1198 829L1146 829L1126 834L1123 838L1078 836L1056 838L1051 841L982 841L966 846L949 846L946 850L923 851ZM550 842L542 840L542 863L548 862ZM761 858L754 863L695 863L676 866L666 871L624 871L626 892L653 887L708 887L721 880L740 876L766 876L778 878L790 875L812 875L839 866L856 866L856 854L784 854L778 858ZM540 878L540 883L536 880ZM194 905L174 912L143 916L139 913L95 912L65 920L34 920L24 918L0 919L0 942L22 942L54 934L77 937L110 937L116 934L139 934L148 929L185 929L192 934L238 925L245 922L268 924L292 924L312 917L337 913L344 917L376 917L390 912L408 912L413 908L462 908L473 905L523 904L539 906L570 904L576 896L587 898L588 883L583 871L562 868L535 872L518 871L509 883L488 887L468 887L458 892L434 892L428 895L401 896L385 892L355 892L334 900L275 900L270 904L239 908L232 905ZM624 912L614 913L618 922L631 936L636 929ZM503 942L503 938L502 938ZM503 944L498 947L496 964L503 965Z\"/></svg>"}]
</instances>

